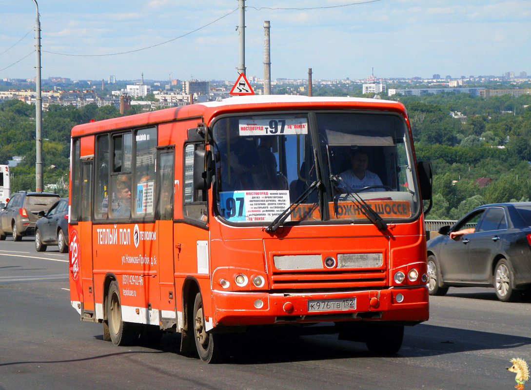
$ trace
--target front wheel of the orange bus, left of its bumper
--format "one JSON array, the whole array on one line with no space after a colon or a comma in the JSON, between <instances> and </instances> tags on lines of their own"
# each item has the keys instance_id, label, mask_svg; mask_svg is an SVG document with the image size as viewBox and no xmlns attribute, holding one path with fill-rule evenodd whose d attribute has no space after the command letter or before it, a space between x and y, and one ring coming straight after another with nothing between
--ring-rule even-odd
<instances>
[{"instance_id":1,"label":"front wheel of the orange bus, left of its bumper","mask_svg":"<svg viewBox=\"0 0 531 390\"><path fill-rule=\"evenodd\" d=\"M192 329L195 348L199 358L205 363L219 363L227 356L226 334L212 334L205 330L203 299L201 293L195 296Z\"/></svg>"}]
</instances>

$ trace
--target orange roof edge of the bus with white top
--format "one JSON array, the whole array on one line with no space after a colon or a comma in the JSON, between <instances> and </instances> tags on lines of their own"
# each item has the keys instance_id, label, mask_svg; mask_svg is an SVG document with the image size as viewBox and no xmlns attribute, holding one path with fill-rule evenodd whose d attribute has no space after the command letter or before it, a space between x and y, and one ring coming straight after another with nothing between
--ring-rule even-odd
<instances>
[{"instance_id":1,"label":"orange roof edge of the bus with white top","mask_svg":"<svg viewBox=\"0 0 531 390\"><path fill-rule=\"evenodd\" d=\"M402 103L392 100L342 98L342 97L307 97L298 95L255 95L238 96L220 101L195 103L193 105L143 112L142 114L105 119L77 125L72 128L72 136L81 136L104 132L118 128L149 126L157 123L174 122L187 118L198 118L198 122L210 123L212 117L227 112L268 111L280 109L335 109L356 108L366 110L392 111L405 115Z\"/></svg>"}]
</instances>

